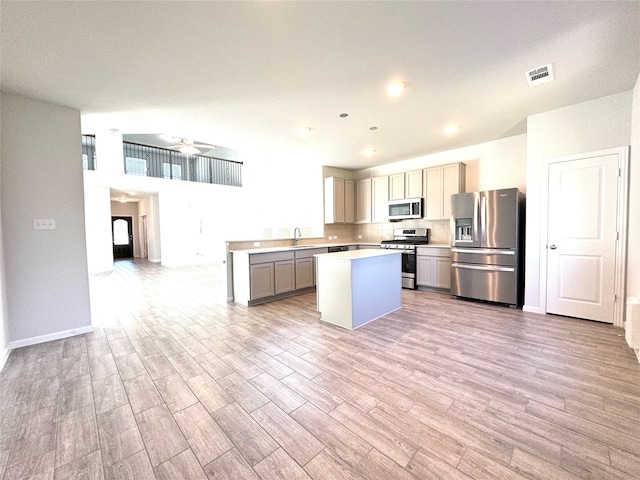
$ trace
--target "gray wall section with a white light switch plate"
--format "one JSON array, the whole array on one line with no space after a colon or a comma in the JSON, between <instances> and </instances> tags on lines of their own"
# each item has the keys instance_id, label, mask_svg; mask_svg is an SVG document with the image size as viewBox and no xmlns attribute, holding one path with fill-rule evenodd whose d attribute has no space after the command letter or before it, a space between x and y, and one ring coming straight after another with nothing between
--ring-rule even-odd
<instances>
[{"instance_id":1,"label":"gray wall section with a white light switch plate","mask_svg":"<svg viewBox=\"0 0 640 480\"><path fill-rule=\"evenodd\" d=\"M10 345L88 331L80 112L2 92L1 128ZM34 230L36 218L56 229Z\"/></svg>"}]
</instances>

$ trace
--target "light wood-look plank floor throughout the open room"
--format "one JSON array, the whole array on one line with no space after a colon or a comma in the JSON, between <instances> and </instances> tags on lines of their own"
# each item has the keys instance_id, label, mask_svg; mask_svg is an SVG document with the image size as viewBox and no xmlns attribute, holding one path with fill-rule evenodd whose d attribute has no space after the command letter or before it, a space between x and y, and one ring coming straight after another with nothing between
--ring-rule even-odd
<instances>
[{"instance_id":1,"label":"light wood-look plank floor throughout the open room","mask_svg":"<svg viewBox=\"0 0 640 480\"><path fill-rule=\"evenodd\" d=\"M95 332L0 374L0 478L640 477L621 329L405 290L351 332L315 294L227 304L222 275L94 276Z\"/></svg>"}]
</instances>

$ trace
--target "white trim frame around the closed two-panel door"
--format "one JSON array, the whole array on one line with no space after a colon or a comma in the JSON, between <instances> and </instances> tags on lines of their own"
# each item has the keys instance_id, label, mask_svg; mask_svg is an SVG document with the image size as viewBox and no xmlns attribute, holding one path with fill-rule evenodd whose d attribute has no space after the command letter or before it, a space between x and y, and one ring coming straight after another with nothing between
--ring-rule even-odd
<instances>
[{"instance_id":1,"label":"white trim frame around the closed two-panel door","mask_svg":"<svg viewBox=\"0 0 640 480\"><path fill-rule=\"evenodd\" d=\"M572 160L582 160L604 155L618 155L618 168L620 177L618 180L618 206L617 223L619 240L616 242L616 279L614 293L618 301L614 304L613 325L622 327L624 325L625 292L627 289L627 228L629 225L628 203L629 203L629 146L617 148L607 148L594 152L584 152L563 157L548 158L543 163L542 174L542 195L540 202L540 212L544 221L540 222L540 279L538 302L540 313L547 311L547 235L549 227L549 167L551 164L569 162Z\"/></svg>"}]
</instances>

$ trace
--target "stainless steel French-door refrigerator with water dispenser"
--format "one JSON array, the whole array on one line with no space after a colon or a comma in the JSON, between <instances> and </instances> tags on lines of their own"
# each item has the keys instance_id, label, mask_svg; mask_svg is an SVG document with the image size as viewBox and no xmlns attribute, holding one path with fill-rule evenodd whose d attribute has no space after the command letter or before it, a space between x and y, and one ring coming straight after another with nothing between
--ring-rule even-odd
<instances>
[{"instance_id":1,"label":"stainless steel French-door refrigerator with water dispenser","mask_svg":"<svg viewBox=\"0 0 640 480\"><path fill-rule=\"evenodd\" d=\"M451 295L520 307L524 195L517 188L451 196Z\"/></svg>"}]
</instances>

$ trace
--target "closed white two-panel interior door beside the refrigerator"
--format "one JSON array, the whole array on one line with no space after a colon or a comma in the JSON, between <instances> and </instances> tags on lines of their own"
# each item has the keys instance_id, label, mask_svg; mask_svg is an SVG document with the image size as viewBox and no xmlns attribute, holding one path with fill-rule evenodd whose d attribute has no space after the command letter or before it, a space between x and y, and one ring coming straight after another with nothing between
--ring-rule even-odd
<instances>
[{"instance_id":1,"label":"closed white two-panel interior door beside the refrigerator","mask_svg":"<svg viewBox=\"0 0 640 480\"><path fill-rule=\"evenodd\" d=\"M613 323L618 155L549 164L547 312Z\"/></svg>"}]
</instances>

